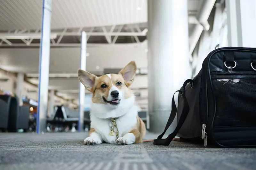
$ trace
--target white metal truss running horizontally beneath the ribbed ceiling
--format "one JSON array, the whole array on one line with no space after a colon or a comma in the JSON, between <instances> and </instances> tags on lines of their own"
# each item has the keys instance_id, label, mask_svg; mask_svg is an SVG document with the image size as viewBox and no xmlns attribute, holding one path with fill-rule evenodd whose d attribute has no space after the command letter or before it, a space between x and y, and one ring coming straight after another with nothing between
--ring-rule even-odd
<instances>
[{"instance_id":1,"label":"white metal truss running horizontally beneath the ribbed ceiling","mask_svg":"<svg viewBox=\"0 0 256 170\"><path fill-rule=\"evenodd\" d=\"M146 39L147 28L143 28L138 24L135 25L113 25L91 28L64 28L51 30L51 46L52 47L76 47L81 46L81 33L87 33L88 44L116 44L118 38L130 37L129 42L140 43ZM75 37L75 38L74 38ZM105 37L102 40L97 37ZM140 38L143 37L143 38ZM9 30L0 33L0 47L39 47L41 39L41 31L37 30ZM142 40L141 40L142 39ZM21 41L23 43L21 43ZM128 42L128 43L129 43ZM125 43L125 42L120 42Z\"/></svg>"}]
</instances>

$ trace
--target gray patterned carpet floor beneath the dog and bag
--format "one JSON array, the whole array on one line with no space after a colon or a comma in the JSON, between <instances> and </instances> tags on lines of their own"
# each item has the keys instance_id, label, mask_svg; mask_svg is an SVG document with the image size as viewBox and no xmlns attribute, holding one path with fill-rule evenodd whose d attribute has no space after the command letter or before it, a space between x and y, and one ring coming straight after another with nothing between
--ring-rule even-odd
<instances>
[{"instance_id":1,"label":"gray patterned carpet floor beneath the dog and bag","mask_svg":"<svg viewBox=\"0 0 256 170\"><path fill-rule=\"evenodd\" d=\"M256 149L204 148L172 141L84 146L85 133L0 133L1 170L256 169ZM147 134L148 139L157 135Z\"/></svg>"}]
</instances>

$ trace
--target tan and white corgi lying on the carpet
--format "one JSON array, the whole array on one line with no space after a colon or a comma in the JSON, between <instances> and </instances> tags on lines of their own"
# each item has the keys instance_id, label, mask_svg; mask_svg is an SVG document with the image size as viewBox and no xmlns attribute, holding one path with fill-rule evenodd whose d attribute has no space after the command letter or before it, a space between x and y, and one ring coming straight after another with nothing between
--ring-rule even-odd
<instances>
[{"instance_id":1,"label":"tan and white corgi lying on the carpet","mask_svg":"<svg viewBox=\"0 0 256 170\"><path fill-rule=\"evenodd\" d=\"M92 93L91 128L84 145L142 143L146 127L138 116L139 107L130 89L136 70L134 61L118 74L100 77L78 70L79 80Z\"/></svg>"}]
</instances>

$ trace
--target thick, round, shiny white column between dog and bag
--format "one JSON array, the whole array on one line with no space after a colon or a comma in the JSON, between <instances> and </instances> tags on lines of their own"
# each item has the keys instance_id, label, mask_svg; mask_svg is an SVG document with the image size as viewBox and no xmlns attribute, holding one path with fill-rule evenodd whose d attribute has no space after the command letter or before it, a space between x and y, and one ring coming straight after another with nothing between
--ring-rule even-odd
<instances>
[{"instance_id":1,"label":"thick, round, shiny white column between dog and bag","mask_svg":"<svg viewBox=\"0 0 256 170\"><path fill-rule=\"evenodd\" d=\"M164 130L173 93L190 77L187 0L148 0L150 131ZM175 127L176 119L167 133Z\"/></svg>"}]
</instances>

